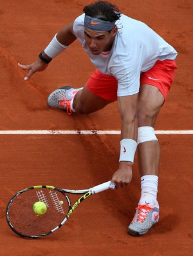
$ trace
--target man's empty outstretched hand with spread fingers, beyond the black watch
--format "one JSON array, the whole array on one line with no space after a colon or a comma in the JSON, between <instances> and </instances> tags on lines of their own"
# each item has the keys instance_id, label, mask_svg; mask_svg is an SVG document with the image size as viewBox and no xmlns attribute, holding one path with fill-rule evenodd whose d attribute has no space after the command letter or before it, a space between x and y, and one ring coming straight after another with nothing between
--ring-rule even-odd
<instances>
[{"instance_id":1,"label":"man's empty outstretched hand with spread fingers, beyond the black watch","mask_svg":"<svg viewBox=\"0 0 193 256\"><path fill-rule=\"evenodd\" d=\"M30 72L28 72L28 74L24 77L24 80L28 80L28 79L30 79L30 77L32 77L32 75L35 72L40 72L40 71L45 70L47 68L48 64L41 61L41 59L38 59L37 61L35 61L34 63L32 63L30 65L23 65L23 64L18 63L18 66L20 68L22 68L23 70L30 70Z\"/></svg>"}]
</instances>

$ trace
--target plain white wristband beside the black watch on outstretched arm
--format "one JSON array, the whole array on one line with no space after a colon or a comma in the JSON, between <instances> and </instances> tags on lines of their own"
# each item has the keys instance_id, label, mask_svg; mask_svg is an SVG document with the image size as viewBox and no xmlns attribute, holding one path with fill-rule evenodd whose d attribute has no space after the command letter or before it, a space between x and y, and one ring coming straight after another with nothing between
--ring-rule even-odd
<instances>
[{"instance_id":1,"label":"plain white wristband beside the black watch on outstretched arm","mask_svg":"<svg viewBox=\"0 0 193 256\"><path fill-rule=\"evenodd\" d=\"M48 44L48 46L44 50L45 54L51 57L52 59L69 47L69 45L66 46L66 45L60 44L60 42L57 40L56 35L53 37L50 44Z\"/></svg>"}]
</instances>

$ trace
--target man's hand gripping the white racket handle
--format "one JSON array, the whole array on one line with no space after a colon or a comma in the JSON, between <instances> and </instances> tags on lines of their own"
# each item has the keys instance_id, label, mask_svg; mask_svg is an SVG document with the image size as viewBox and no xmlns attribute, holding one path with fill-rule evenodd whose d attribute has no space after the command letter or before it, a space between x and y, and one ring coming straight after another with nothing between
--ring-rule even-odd
<instances>
[{"instance_id":1,"label":"man's hand gripping the white racket handle","mask_svg":"<svg viewBox=\"0 0 193 256\"><path fill-rule=\"evenodd\" d=\"M132 162L120 162L118 170L111 179L116 184L116 188L124 188L132 179Z\"/></svg>"}]
</instances>

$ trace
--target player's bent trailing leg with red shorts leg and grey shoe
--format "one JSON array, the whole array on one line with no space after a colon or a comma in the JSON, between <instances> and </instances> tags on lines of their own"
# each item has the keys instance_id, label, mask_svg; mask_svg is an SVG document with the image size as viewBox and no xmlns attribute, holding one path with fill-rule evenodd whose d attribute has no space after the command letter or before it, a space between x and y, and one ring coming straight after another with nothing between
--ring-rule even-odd
<instances>
[{"instance_id":1,"label":"player's bent trailing leg with red shorts leg and grey shoe","mask_svg":"<svg viewBox=\"0 0 193 256\"><path fill-rule=\"evenodd\" d=\"M97 69L83 88L63 86L53 91L47 100L48 106L67 110L68 114L93 113L117 99L115 77L100 73Z\"/></svg>"}]
</instances>

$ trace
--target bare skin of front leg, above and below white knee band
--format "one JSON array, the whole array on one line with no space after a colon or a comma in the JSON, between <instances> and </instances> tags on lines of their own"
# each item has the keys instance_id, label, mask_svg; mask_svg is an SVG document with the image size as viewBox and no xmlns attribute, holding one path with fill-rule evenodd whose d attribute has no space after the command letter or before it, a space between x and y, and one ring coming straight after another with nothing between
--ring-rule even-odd
<instances>
[{"instance_id":1,"label":"bare skin of front leg, above and below white knee band","mask_svg":"<svg viewBox=\"0 0 193 256\"><path fill-rule=\"evenodd\" d=\"M155 86L142 84L138 100L138 127L154 128L164 97ZM160 144L156 140L138 142L140 175L158 175Z\"/></svg>"}]
</instances>

